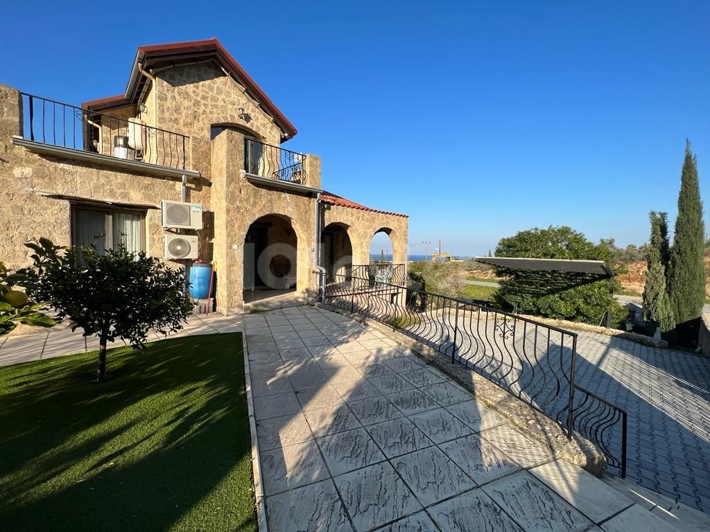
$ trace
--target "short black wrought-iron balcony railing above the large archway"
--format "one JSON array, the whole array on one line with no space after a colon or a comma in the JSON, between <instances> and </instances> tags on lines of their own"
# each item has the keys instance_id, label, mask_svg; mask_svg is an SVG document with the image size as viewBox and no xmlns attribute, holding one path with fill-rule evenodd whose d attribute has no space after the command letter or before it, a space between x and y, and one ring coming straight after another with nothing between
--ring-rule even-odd
<instances>
[{"instance_id":1,"label":"short black wrought-iron balcony railing above the large archway","mask_svg":"<svg viewBox=\"0 0 710 532\"><path fill-rule=\"evenodd\" d=\"M244 170L247 174L307 186L305 160L306 156L302 153L261 143L253 138L244 139Z\"/></svg>"}]
</instances>

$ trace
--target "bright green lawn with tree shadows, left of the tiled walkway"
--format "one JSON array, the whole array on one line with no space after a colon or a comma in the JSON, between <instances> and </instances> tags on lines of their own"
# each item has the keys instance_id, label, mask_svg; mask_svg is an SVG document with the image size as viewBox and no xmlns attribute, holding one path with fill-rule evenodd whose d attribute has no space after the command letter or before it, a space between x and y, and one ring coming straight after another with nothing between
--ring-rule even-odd
<instances>
[{"instance_id":1,"label":"bright green lawn with tree shadows, left of the tiled walkway","mask_svg":"<svg viewBox=\"0 0 710 532\"><path fill-rule=\"evenodd\" d=\"M0 530L254 531L239 333L0 367Z\"/></svg>"}]
</instances>

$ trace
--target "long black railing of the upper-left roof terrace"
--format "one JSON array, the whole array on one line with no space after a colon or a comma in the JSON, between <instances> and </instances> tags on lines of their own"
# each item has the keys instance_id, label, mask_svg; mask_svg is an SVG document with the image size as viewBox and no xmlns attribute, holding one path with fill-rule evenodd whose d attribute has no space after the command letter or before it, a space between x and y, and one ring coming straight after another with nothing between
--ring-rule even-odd
<instances>
[{"instance_id":1,"label":"long black railing of the upper-left roof terrace","mask_svg":"<svg viewBox=\"0 0 710 532\"><path fill-rule=\"evenodd\" d=\"M23 138L119 159L187 170L190 137L60 101L20 93Z\"/></svg>"}]
</instances>

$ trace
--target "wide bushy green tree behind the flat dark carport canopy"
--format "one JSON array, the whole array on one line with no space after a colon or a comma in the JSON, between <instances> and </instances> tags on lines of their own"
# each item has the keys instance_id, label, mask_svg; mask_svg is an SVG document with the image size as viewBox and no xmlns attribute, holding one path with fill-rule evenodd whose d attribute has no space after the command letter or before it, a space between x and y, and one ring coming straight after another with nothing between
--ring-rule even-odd
<instances>
[{"instance_id":1,"label":"wide bushy green tree behind the flat dark carport canopy","mask_svg":"<svg viewBox=\"0 0 710 532\"><path fill-rule=\"evenodd\" d=\"M567 226L533 228L503 238L496 247L496 257L546 259L584 259L613 262L616 248L611 240L594 244L584 234ZM613 299L608 279L572 272L538 272L497 267L505 277L494 297L504 309L518 309L525 314L583 321L599 325L606 311L612 310L618 323L626 311Z\"/></svg>"}]
</instances>

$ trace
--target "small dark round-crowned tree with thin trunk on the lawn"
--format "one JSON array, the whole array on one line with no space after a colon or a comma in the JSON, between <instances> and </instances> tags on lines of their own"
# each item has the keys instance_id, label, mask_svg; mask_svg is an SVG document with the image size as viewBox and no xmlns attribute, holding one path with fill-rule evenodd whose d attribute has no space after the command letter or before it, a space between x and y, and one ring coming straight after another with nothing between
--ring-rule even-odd
<instances>
[{"instance_id":1,"label":"small dark round-crowned tree with thin trunk on the lawn","mask_svg":"<svg viewBox=\"0 0 710 532\"><path fill-rule=\"evenodd\" d=\"M186 321L185 274L155 257L123 246L102 254L94 245L63 247L46 238L26 246L34 252L23 282L28 294L53 301L72 331L99 337L97 382L106 379L108 342L121 338L143 348L151 329L165 335Z\"/></svg>"}]
</instances>

